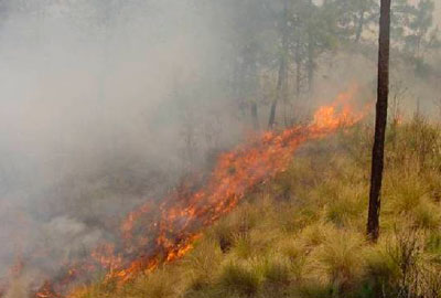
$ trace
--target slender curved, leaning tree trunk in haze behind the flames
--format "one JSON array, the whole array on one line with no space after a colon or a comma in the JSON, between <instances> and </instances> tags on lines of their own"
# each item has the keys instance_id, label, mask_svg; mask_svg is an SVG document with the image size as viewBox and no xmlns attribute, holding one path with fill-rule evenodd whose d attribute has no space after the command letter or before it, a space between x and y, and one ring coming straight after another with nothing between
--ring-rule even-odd
<instances>
[{"instance_id":1,"label":"slender curved, leaning tree trunk in haze behind the flames","mask_svg":"<svg viewBox=\"0 0 441 298\"><path fill-rule=\"evenodd\" d=\"M288 70L288 0L284 0L284 8L283 8L283 28L282 28L282 53L280 54L280 62L279 62L279 74L277 78L277 91L276 91L276 98L271 104L271 110L269 114L269 121L268 128L272 128L276 121L276 110L277 104L282 96L283 87L287 79L287 70Z\"/></svg>"}]
</instances>

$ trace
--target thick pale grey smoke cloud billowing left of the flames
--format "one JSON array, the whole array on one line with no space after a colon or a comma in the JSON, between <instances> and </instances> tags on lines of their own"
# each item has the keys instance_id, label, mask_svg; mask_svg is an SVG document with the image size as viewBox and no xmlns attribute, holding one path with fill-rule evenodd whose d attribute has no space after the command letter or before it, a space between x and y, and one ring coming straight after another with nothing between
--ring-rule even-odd
<instances>
[{"instance_id":1,"label":"thick pale grey smoke cloud billowing left of the flames","mask_svg":"<svg viewBox=\"0 0 441 298\"><path fill-rule=\"evenodd\" d=\"M190 1L2 3L0 276L51 275L240 129Z\"/></svg>"}]
</instances>

